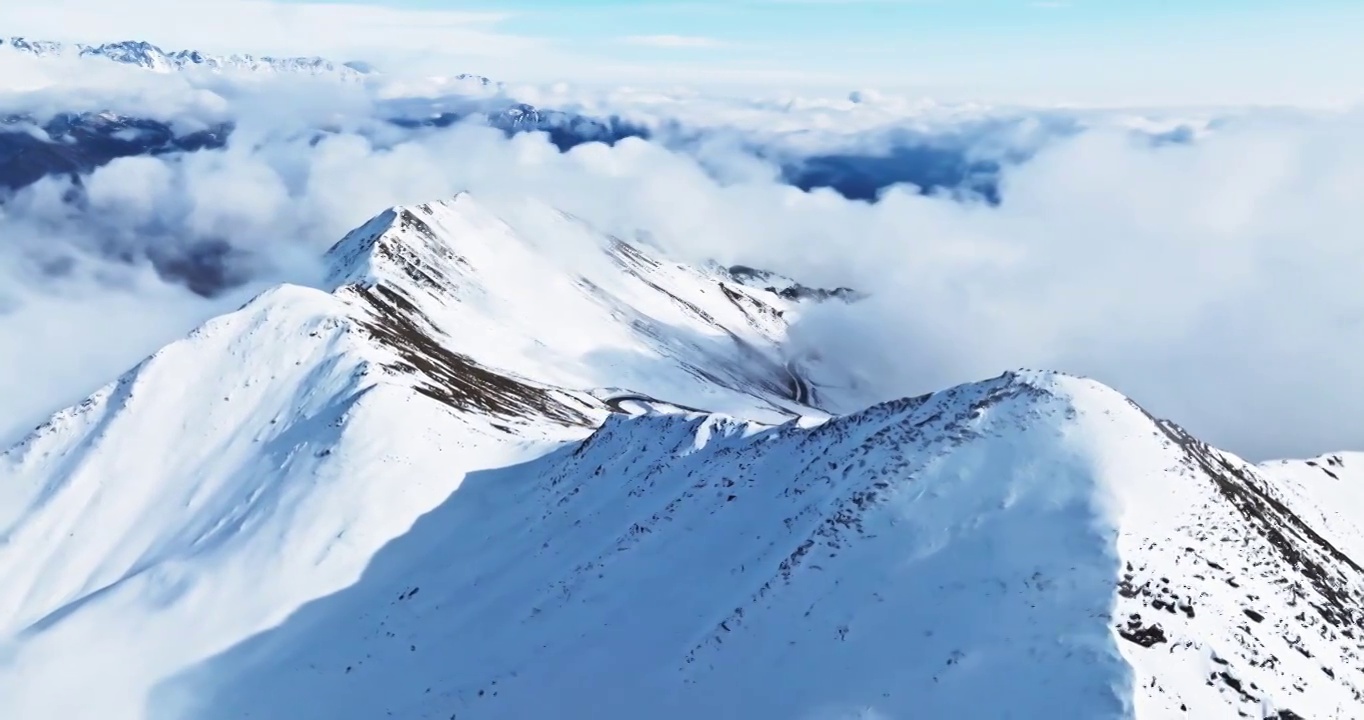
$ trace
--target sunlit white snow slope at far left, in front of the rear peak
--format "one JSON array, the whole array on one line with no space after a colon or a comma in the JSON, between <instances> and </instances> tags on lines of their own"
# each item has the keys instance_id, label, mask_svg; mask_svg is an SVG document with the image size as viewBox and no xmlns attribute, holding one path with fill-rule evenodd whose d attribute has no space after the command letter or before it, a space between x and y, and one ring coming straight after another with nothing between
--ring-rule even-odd
<instances>
[{"instance_id":1,"label":"sunlit white snow slope at far left, in front of the rear peak","mask_svg":"<svg viewBox=\"0 0 1364 720\"><path fill-rule=\"evenodd\" d=\"M353 582L533 440L427 401L349 312L273 290L0 460L0 716L140 717L157 678Z\"/></svg>"}]
</instances>

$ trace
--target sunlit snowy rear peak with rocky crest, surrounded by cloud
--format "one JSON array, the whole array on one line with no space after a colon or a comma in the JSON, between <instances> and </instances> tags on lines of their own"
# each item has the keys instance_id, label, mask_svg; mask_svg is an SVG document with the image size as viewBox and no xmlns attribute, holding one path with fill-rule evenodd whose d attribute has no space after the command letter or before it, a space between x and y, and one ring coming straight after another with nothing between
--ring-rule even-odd
<instances>
[{"instance_id":1,"label":"sunlit snowy rear peak with rocky crest, surrounded by cloud","mask_svg":"<svg viewBox=\"0 0 1364 720\"><path fill-rule=\"evenodd\" d=\"M780 350L791 300L543 203L461 192L393 207L327 260L338 296L389 297L442 342L516 376L767 421L817 413Z\"/></svg>"}]
</instances>

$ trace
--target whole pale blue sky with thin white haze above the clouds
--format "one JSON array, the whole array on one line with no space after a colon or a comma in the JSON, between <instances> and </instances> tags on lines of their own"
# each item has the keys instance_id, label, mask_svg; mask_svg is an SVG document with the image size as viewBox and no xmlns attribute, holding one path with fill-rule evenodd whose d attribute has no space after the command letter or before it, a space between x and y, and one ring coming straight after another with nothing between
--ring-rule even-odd
<instances>
[{"instance_id":1,"label":"whole pale blue sky with thin white haze above the clouds","mask_svg":"<svg viewBox=\"0 0 1364 720\"><path fill-rule=\"evenodd\" d=\"M11 5L15 5L11 3ZM1353 104L1359 0L50 0L0 33L325 53L423 74L949 100ZM207 20L206 20L207 18Z\"/></svg>"}]
</instances>

